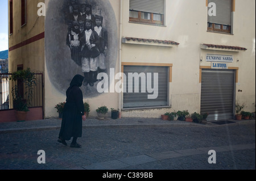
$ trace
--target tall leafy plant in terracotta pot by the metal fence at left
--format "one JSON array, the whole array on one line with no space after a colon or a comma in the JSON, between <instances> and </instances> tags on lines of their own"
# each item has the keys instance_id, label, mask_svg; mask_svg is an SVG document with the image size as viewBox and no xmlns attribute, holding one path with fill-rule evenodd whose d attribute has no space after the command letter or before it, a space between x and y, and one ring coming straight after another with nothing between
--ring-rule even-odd
<instances>
[{"instance_id":1,"label":"tall leafy plant in terracotta pot by the metal fence at left","mask_svg":"<svg viewBox=\"0 0 256 181\"><path fill-rule=\"evenodd\" d=\"M16 119L17 121L24 121L26 120L26 115L29 111L28 106L32 102L33 90L36 85L35 73L30 68L18 70L11 74L10 80L16 82L11 89Z\"/></svg>"}]
</instances>

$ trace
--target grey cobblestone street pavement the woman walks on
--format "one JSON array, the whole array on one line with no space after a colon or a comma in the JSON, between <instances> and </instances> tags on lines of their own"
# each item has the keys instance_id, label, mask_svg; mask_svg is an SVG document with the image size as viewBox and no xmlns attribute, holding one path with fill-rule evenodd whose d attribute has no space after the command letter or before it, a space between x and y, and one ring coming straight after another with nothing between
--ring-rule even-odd
<instances>
[{"instance_id":1,"label":"grey cobblestone street pavement the woman walks on","mask_svg":"<svg viewBox=\"0 0 256 181\"><path fill-rule=\"evenodd\" d=\"M82 132L77 140L82 148L76 149L69 147L71 141L68 146L57 142L59 128L0 129L0 170L255 170L255 120L84 127ZM38 163L39 150L45 151L46 163ZM216 163L208 162L209 150L216 151Z\"/></svg>"}]
</instances>

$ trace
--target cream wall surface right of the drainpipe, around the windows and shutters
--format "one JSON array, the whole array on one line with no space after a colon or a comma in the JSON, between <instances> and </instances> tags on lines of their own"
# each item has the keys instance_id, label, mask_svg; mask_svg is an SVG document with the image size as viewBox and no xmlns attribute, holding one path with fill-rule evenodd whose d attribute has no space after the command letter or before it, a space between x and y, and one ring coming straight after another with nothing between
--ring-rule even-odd
<instances>
[{"instance_id":1,"label":"cream wall surface right of the drainpipe, around the windows and shutters","mask_svg":"<svg viewBox=\"0 0 256 181\"><path fill-rule=\"evenodd\" d=\"M208 7L204 0L167 0L165 26L151 26L129 23L129 1L123 1L123 37L172 40L180 44L172 48L123 44L122 61L173 64L170 83L171 110L199 112L199 68L202 65L210 66L210 62L205 62L205 54L233 55L235 61L229 63L229 66L239 68L236 89L242 90L236 90L236 99L246 103L247 111L255 111L252 104L255 102L255 1L236 1L233 12L233 35L207 32L207 11ZM227 52L200 49L200 44L204 43L245 47L247 50ZM165 111L166 109L163 109L160 112ZM160 116L157 109L155 114L152 110L141 112L139 115L142 116L148 113L155 117ZM126 113L127 116L130 114Z\"/></svg>"}]
</instances>

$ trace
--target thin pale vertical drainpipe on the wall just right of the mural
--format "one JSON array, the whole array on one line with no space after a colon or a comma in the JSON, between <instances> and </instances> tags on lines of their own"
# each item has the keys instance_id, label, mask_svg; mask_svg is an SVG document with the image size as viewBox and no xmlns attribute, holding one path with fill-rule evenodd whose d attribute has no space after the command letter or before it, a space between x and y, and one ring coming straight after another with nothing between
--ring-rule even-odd
<instances>
[{"instance_id":1,"label":"thin pale vertical drainpipe on the wall just right of the mural","mask_svg":"<svg viewBox=\"0 0 256 181\"><path fill-rule=\"evenodd\" d=\"M119 72L122 72L122 15L123 15L123 0L120 0L119 7ZM122 80L123 81L123 80ZM119 93L119 118L121 118L121 107L122 107L122 91Z\"/></svg>"}]
</instances>

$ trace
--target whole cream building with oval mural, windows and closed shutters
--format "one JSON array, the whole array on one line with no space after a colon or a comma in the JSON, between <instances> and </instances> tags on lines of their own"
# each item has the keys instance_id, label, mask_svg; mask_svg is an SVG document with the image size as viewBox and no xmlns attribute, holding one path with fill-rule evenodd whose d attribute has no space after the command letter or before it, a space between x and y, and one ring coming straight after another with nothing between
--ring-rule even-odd
<instances>
[{"instance_id":1,"label":"whole cream building with oval mural, windows and closed shutters","mask_svg":"<svg viewBox=\"0 0 256 181\"><path fill-rule=\"evenodd\" d=\"M94 26L102 16L105 65L100 58L87 64L83 3ZM106 73L105 82L81 87L90 116L100 106L125 117L208 112L208 120L233 118L236 104L255 111L254 0L10 0L9 12L9 70L43 72L45 117L57 116L55 105L65 101L75 74L97 72Z\"/></svg>"}]
</instances>

